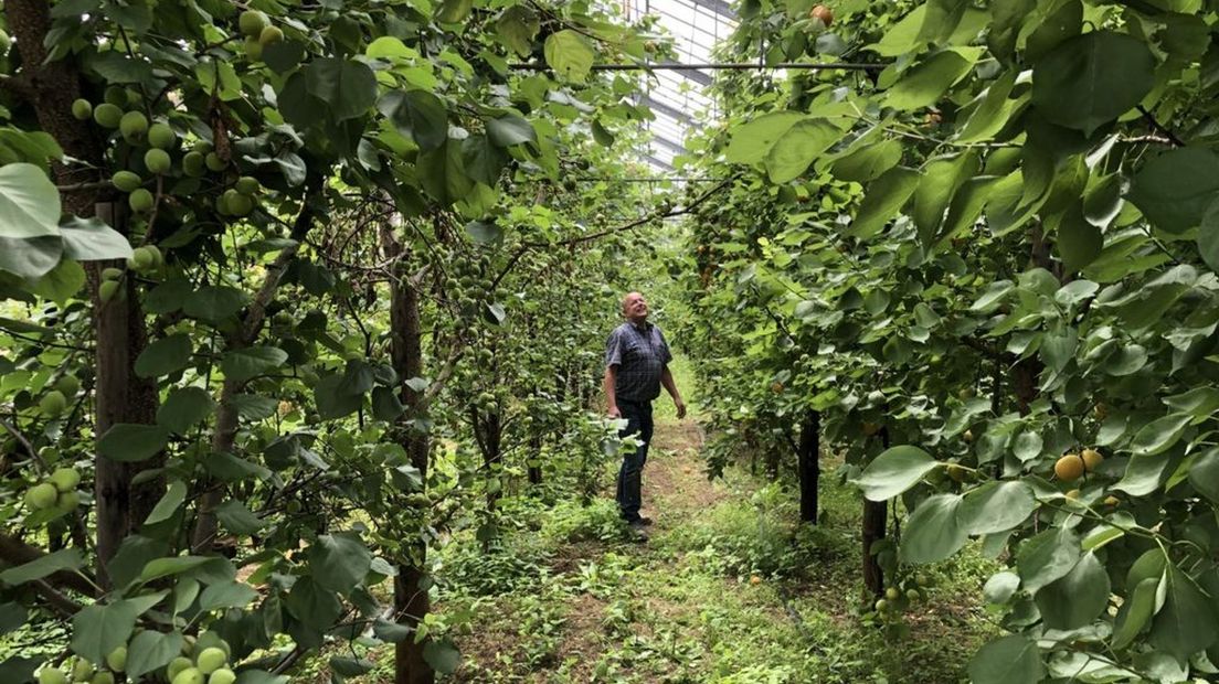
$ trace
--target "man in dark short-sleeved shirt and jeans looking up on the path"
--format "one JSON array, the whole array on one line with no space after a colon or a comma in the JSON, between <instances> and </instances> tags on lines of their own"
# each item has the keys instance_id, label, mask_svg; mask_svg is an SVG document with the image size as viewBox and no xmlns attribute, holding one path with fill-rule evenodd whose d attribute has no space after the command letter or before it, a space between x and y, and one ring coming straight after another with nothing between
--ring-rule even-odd
<instances>
[{"instance_id":1,"label":"man in dark short-sleeved shirt and jeans looking up on the path","mask_svg":"<svg viewBox=\"0 0 1219 684\"><path fill-rule=\"evenodd\" d=\"M631 454L624 454L618 471L618 508L622 517L646 540L644 527L650 518L639 515L642 505L644 464L647 462L647 445L652 441L652 399L661 396L661 386L673 397L678 417L685 417L685 403L673 382L669 361L673 354L661 333L661 329L647 323L647 302L639 292L623 297L622 315L627 323L610 333L606 342L606 403L612 417L627 419L627 427L619 433L638 436L641 444Z\"/></svg>"}]
</instances>

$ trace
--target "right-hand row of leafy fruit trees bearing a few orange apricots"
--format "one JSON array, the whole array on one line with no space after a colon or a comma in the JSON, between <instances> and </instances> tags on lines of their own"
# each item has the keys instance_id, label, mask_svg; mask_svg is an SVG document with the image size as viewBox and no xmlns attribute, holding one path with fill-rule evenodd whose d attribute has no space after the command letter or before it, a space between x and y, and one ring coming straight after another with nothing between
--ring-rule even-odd
<instances>
[{"instance_id":1,"label":"right-hand row of leafy fruit trees bearing a few orange apricots","mask_svg":"<svg viewBox=\"0 0 1219 684\"><path fill-rule=\"evenodd\" d=\"M691 142L713 421L844 454L876 594L997 559L974 682L1219 672L1214 2L812 5L723 56L837 66L720 75Z\"/></svg>"}]
</instances>

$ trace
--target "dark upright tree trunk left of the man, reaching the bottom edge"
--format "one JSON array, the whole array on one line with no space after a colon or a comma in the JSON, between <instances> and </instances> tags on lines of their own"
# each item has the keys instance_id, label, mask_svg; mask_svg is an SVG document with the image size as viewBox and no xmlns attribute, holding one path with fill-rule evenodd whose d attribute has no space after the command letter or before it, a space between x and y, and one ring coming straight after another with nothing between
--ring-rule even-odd
<instances>
[{"instance_id":1,"label":"dark upright tree trunk left of the man, reaching the bottom edge","mask_svg":"<svg viewBox=\"0 0 1219 684\"><path fill-rule=\"evenodd\" d=\"M402 247L390 229L384 229L385 252L402 257ZM406 449L411 465L419 470L424 487L428 481L428 436L416 430L410 420L421 416L427 407L423 394L411 389L406 381L423 375L423 343L419 321L419 292L400 263L399 277L391 285L390 295L390 358L401 382L400 396L406 413L395 427L399 443ZM421 588L425 573L428 548L418 537L406 539L407 551L399 559L399 576L394 581L394 610L399 624L410 627L412 634L432 609L428 592ZM423 660L425 643L413 637L399 641L394 649L395 684L433 684L436 674Z\"/></svg>"}]
</instances>

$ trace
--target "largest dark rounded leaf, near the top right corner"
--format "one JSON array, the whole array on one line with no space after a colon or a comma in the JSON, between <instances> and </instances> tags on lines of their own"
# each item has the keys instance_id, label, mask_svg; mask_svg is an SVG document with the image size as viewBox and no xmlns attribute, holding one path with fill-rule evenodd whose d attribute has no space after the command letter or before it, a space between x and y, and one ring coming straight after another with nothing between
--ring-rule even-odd
<instances>
[{"instance_id":1,"label":"largest dark rounded leaf, near the top right corner","mask_svg":"<svg viewBox=\"0 0 1219 684\"><path fill-rule=\"evenodd\" d=\"M1091 136L1151 92L1156 57L1121 33L1093 30L1061 43L1032 67L1032 103L1052 123Z\"/></svg>"}]
</instances>

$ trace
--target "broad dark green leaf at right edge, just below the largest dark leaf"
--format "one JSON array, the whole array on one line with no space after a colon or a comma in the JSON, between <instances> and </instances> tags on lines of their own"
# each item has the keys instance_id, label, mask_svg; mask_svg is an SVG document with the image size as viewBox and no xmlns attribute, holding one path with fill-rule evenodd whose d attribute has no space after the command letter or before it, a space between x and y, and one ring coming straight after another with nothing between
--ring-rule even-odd
<instances>
[{"instance_id":1,"label":"broad dark green leaf at right edge, just below the largest dark leaf","mask_svg":"<svg viewBox=\"0 0 1219 684\"><path fill-rule=\"evenodd\" d=\"M1156 228L1185 232L1219 201L1219 155L1202 147L1164 152L1139 169L1128 197Z\"/></svg>"}]
</instances>

